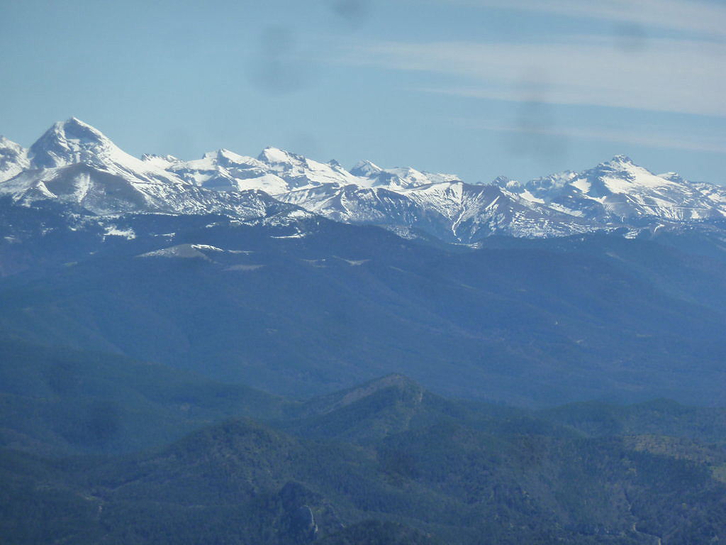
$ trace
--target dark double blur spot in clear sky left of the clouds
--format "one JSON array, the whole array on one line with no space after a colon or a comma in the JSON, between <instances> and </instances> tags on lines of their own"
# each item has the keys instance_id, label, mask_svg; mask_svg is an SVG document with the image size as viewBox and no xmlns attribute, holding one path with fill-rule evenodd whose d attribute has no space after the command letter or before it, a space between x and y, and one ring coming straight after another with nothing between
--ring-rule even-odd
<instances>
[{"instance_id":1,"label":"dark double blur spot in clear sky left of the clouds","mask_svg":"<svg viewBox=\"0 0 726 545\"><path fill-rule=\"evenodd\" d=\"M269 94L287 94L305 86L309 63L298 52L292 29L266 28L260 36L257 58L250 67L250 81Z\"/></svg>"}]
</instances>

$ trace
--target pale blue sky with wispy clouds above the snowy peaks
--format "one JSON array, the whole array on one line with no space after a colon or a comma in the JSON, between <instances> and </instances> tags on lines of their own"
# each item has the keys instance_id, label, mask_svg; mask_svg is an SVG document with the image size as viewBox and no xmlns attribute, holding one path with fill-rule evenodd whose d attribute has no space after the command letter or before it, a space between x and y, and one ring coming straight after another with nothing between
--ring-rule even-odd
<instances>
[{"instance_id":1,"label":"pale blue sky with wispy clouds above the snowy peaks","mask_svg":"<svg viewBox=\"0 0 726 545\"><path fill-rule=\"evenodd\" d=\"M468 182L625 154L726 184L726 3L0 0L0 134L266 146Z\"/></svg>"}]
</instances>

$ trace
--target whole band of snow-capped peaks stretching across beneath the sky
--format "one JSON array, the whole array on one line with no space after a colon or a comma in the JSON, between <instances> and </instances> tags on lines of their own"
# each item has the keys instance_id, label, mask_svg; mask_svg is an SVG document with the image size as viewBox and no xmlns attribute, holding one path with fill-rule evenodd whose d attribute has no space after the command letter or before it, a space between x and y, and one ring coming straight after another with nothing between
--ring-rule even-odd
<instances>
[{"instance_id":1,"label":"whole band of snow-capped peaks stretching across beneath the sky","mask_svg":"<svg viewBox=\"0 0 726 545\"><path fill-rule=\"evenodd\" d=\"M263 218L305 210L338 222L374 224L471 243L492 234L571 235L627 227L726 219L726 189L656 175L625 156L593 169L529 182L499 177L471 185L454 174L350 171L278 148L257 158L229 150L184 161L134 158L76 118L54 124L28 150L0 139L0 195L22 206L54 201L99 216L123 213L225 214Z\"/></svg>"}]
</instances>

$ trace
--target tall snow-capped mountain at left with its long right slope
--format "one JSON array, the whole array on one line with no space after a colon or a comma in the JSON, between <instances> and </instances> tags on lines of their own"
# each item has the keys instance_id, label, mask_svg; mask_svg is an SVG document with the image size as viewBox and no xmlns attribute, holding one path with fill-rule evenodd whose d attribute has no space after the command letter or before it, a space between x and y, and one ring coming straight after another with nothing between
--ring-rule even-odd
<instances>
[{"instance_id":1,"label":"tall snow-capped mountain at left with its long right slope","mask_svg":"<svg viewBox=\"0 0 726 545\"><path fill-rule=\"evenodd\" d=\"M17 151L7 171L19 166L19 174L0 183L0 195L25 206L56 201L97 215L221 213L242 218L280 207L260 190L221 193L200 187L163 164L130 156L76 118L54 124L25 155Z\"/></svg>"}]
</instances>

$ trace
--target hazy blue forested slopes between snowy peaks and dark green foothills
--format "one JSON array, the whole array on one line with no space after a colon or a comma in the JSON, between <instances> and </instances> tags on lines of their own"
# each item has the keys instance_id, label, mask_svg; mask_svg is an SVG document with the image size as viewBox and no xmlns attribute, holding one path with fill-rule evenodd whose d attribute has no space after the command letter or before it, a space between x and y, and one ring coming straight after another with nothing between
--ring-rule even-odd
<instances>
[{"instance_id":1,"label":"hazy blue forested slopes between snowy peaks and dark green foothills","mask_svg":"<svg viewBox=\"0 0 726 545\"><path fill-rule=\"evenodd\" d=\"M706 235L462 249L286 211L2 210L15 238L0 241L0 328L30 342L280 394L397 372L520 405L724 400L726 269Z\"/></svg>"}]
</instances>

